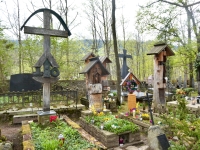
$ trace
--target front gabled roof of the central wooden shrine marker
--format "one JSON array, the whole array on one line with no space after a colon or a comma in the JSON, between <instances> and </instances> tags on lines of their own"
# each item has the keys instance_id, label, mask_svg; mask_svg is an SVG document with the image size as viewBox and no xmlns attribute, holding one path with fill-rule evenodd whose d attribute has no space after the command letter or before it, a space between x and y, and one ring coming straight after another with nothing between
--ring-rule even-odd
<instances>
[{"instance_id":1,"label":"front gabled roof of the central wooden shrine marker","mask_svg":"<svg viewBox=\"0 0 200 150\"><path fill-rule=\"evenodd\" d=\"M95 64L99 64L101 70L102 70L102 76L104 75L109 75L110 73L108 72L108 70L103 66L103 64L100 62L98 57L94 57L94 58L90 58L89 59L90 62L83 68L83 70L79 73L79 74L85 74L88 73L90 71L90 69L95 65Z\"/></svg>"}]
</instances>

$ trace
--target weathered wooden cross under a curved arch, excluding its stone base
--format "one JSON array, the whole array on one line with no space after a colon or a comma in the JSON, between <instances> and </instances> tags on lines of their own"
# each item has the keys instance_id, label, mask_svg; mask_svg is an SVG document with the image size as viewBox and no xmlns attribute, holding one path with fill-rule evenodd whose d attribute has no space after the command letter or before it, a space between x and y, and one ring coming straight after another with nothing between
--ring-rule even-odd
<instances>
[{"instance_id":1,"label":"weathered wooden cross under a curved arch, excluding its stone base","mask_svg":"<svg viewBox=\"0 0 200 150\"><path fill-rule=\"evenodd\" d=\"M63 25L64 21L56 12L54 12L50 9L46 9L46 8L39 9L39 10L35 11L30 17L32 17L34 14L36 14L38 12L43 12L43 28L28 27L28 26L24 26L24 25L22 26L22 28L24 27L24 33L43 35L43 37L44 37L44 42L43 42L44 53L36 64L37 64L37 67L38 67L38 65L40 65L40 66L43 65L44 72L47 70L47 73L44 73L43 77L42 76L34 77L34 79L38 82L43 83L43 111L45 112L45 111L50 111L50 83L54 83L59 80L58 77L52 77L52 76L50 76L50 72L48 73L48 71L50 71L50 69L49 69L50 66L53 66L56 68L58 67L56 61L54 60L54 58L52 58L53 56L50 53L50 47L51 47L50 36L67 38L68 35L70 35L71 33L69 30L68 31L60 31L60 30L50 29L51 13L54 14ZM30 19L30 17L27 19L27 21ZM26 24L26 22L25 22L25 24ZM44 66L44 64L45 64L45 66Z\"/></svg>"}]
</instances>

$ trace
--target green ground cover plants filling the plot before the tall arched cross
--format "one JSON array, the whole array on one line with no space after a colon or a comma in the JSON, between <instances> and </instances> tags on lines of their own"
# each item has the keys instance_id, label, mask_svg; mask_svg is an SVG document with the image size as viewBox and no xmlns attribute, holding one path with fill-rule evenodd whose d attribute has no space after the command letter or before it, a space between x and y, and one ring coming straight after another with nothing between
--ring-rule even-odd
<instances>
[{"instance_id":1,"label":"green ground cover plants filling the plot before the tall arched cross","mask_svg":"<svg viewBox=\"0 0 200 150\"><path fill-rule=\"evenodd\" d=\"M56 119L47 125L30 125L36 150L85 150L95 147L62 120ZM62 139L59 139L60 134Z\"/></svg>"}]
</instances>

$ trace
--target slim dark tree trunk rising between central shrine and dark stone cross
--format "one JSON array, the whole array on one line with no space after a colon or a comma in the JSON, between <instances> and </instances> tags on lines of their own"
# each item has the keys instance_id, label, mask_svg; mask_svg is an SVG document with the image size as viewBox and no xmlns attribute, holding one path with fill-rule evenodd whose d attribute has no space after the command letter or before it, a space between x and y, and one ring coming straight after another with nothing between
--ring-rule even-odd
<instances>
[{"instance_id":1,"label":"slim dark tree trunk rising between central shrine and dark stone cross","mask_svg":"<svg viewBox=\"0 0 200 150\"><path fill-rule=\"evenodd\" d=\"M112 0L112 34L113 34L113 45L115 52L115 61L116 61L116 70L117 70L117 104L121 105L121 71L118 57L118 48L117 48L117 36L116 36L116 27L115 27L115 0Z\"/></svg>"}]
</instances>

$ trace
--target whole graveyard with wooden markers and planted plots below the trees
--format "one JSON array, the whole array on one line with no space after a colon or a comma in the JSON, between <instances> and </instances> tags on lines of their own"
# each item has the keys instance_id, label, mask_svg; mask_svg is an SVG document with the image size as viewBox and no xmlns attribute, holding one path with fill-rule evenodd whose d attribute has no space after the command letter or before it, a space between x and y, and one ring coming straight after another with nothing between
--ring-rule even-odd
<instances>
[{"instance_id":1,"label":"whole graveyard with wooden markers and planted plots below the trees","mask_svg":"<svg viewBox=\"0 0 200 150\"><path fill-rule=\"evenodd\" d=\"M29 26L39 14L42 27ZM52 16L59 29L53 29ZM153 41L142 56L125 44L113 55L94 47L78 49L79 55L67 45L73 33L68 24L48 8L31 13L20 30L42 38L42 50L32 72L0 82L0 150L200 149L199 55L193 66L197 79L186 66L177 69L177 49L166 38ZM55 53L59 44L71 50L64 59L63 51Z\"/></svg>"}]
</instances>

